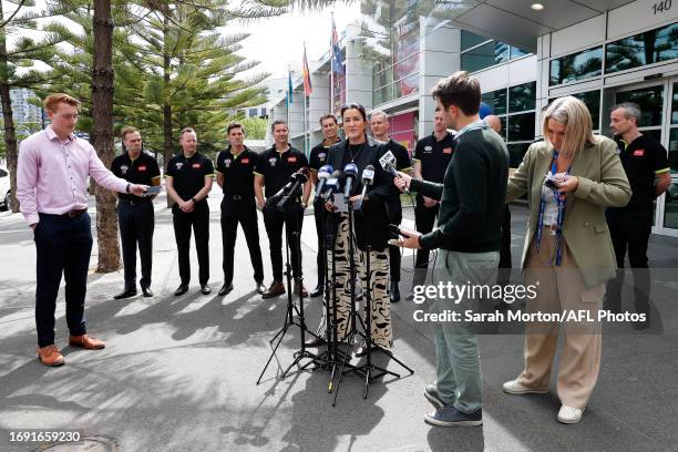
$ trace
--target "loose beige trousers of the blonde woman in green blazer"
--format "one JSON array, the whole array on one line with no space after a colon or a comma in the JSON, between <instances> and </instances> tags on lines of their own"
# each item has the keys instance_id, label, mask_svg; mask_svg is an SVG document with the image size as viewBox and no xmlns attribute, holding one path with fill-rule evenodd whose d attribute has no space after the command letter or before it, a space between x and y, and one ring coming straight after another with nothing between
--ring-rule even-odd
<instances>
[{"instance_id":1,"label":"loose beige trousers of the blonde woman in green blazer","mask_svg":"<svg viewBox=\"0 0 678 452\"><path fill-rule=\"evenodd\" d=\"M565 238L562 263L555 267L555 236L544 228L537 255L533 240L526 263L525 284L537 285L537 297L527 300L528 312L588 311L597 319L603 307L605 285L587 289ZM525 369L518 382L547 390L558 341L557 322L528 322L525 336ZM565 340L558 368L557 393L565 405L584 409L598 379L602 337L597 322L565 323Z\"/></svg>"}]
</instances>

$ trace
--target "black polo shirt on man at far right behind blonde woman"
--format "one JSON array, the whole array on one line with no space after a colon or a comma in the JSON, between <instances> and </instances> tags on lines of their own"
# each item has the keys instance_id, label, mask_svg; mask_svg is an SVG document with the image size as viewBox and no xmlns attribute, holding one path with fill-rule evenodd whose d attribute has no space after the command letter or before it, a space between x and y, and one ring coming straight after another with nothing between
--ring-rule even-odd
<instances>
[{"instance_id":1,"label":"black polo shirt on man at far right behind blonde woman","mask_svg":"<svg viewBox=\"0 0 678 452\"><path fill-rule=\"evenodd\" d=\"M618 138L617 145L633 192L630 201L622 209L626 213L651 214L655 176L669 171L666 148L649 135L640 135L629 144Z\"/></svg>"}]
</instances>

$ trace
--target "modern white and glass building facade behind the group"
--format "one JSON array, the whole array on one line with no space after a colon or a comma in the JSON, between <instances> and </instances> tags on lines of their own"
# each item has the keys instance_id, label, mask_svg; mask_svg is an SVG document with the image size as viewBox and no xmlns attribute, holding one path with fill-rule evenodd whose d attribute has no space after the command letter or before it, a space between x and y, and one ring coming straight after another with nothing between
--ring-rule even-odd
<instances>
[{"instance_id":1,"label":"modern white and glass building facade behind the group","mask_svg":"<svg viewBox=\"0 0 678 452\"><path fill-rule=\"evenodd\" d=\"M345 75L331 78L333 95L329 52L311 64L307 132L300 79L296 103L274 102L269 119L289 113L292 144L308 151L322 138L321 114L360 102L386 111L391 136L413 150L433 129L431 88L466 70L481 82L484 112L502 120L516 167L541 136L541 112L553 99L582 99L595 132L607 136L610 107L636 102L640 130L668 150L675 181L657 199L654 232L678 236L678 2L460 0L429 10L424 3L363 2L364 19L349 25L341 42Z\"/></svg>"}]
</instances>

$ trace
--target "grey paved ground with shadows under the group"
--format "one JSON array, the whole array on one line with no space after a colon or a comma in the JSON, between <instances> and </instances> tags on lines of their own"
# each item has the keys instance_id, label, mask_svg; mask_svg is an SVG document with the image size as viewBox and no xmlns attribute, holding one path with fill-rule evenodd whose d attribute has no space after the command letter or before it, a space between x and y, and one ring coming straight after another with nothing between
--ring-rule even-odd
<instances>
[{"instance_id":1,"label":"grey paved ground with shadows under the group","mask_svg":"<svg viewBox=\"0 0 678 452\"><path fill-rule=\"evenodd\" d=\"M212 287L222 284L219 196L210 197ZM171 214L156 203L154 298L115 301L122 273L91 275L90 331L107 341L103 351L64 348L66 366L42 367L34 357L34 246L20 215L0 214L0 450L32 450L9 442L24 429L76 428L123 451L671 451L678 449L678 339L676 325L664 333L604 338L598 386L578 425L555 420L557 398L515 397L501 383L522 369L522 336L483 336L484 425L441 429L427 425L430 409L422 388L434 380L434 351L428 325L412 320L414 306L392 307L393 351L415 373L384 379L361 397L360 382L347 377L338 404L327 393L328 373L301 372L285 380L273 367L256 386L282 325L285 299L261 300L251 291L244 237L238 238L235 290L224 299L202 296L197 269L181 298ZM514 263L522 246L525 208L513 207ZM411 210L405 216L412 216ZM411 225L411 219L405 223ZM267 282L268 243L261 229ZM315 230L306 218L302 235L307 286L316 282ZM96 263L96 248L91 266ZM678 268L678 239L653 236L653 265ZM195 263L195 257L194 257ZM411 257L403 267L411 267ZM675 270L674 270L675 271ZM403 269L403 279L409 273ZM659 291L672 294L678 277L664 270ZM408 284L403 281L401 288ZM215 290L216 294L216 290ZM65 346L63 289L58 305L58 345ZM319 299L309 304L316 325ZM660 308L660 310L664 308ZM285 337L278 353L291 360L298 333ZM393 361L384 363L400 371ZM555 379L555 377L554 377ZM553 382L552 388L555 387ZM95 449L89 449L95 450ZM103 449L102 449L103 450ZM113 450L113 448L109 448Z\"/></svg>"}]
</instances>

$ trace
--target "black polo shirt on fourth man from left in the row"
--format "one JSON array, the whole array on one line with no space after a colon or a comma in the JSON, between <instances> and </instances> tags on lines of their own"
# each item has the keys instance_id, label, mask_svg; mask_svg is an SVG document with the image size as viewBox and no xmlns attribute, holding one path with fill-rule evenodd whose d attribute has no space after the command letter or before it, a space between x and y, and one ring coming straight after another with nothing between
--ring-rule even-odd
<instances>
[{"instance_id":1,"label":"black polo shirt on fourth man from left in the row","mask_svg":"<svg viewBox=\"0 0 678 452\"><path fill-rule=\"evenodd\" d=\"M264 176L265 194L268 198L289 182L292 173L304 167L308 167L308 158L302 152L290 146L280 153L273 146L259 155L255 174Z\"/></svg>"}]
</instances>

